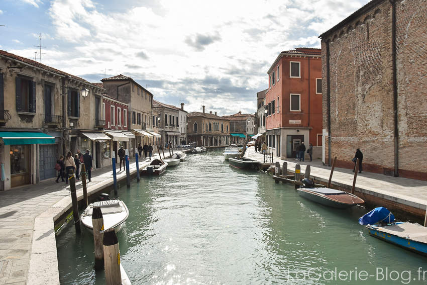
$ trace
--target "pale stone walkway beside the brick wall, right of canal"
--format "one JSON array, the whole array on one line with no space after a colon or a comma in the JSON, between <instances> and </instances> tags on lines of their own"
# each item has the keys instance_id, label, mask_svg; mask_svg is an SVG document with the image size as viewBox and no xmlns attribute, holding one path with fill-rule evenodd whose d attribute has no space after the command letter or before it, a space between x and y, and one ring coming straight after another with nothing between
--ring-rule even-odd
<instances>
[{"instance_id":1,"label":"pale stone walkway beside the brick wall, right of canal","mask_svg":"<svg viewBox=\"0 0 427 285\"><path fill-rule=\"evenodd\" d=\"M255 152L253 146L248 148L245 157L254 158L263 161L263 154ZM288 164L288 171L294 172L295 165L301 166L301 173L305 172L307 165L310 165L310 176L315 176L321 181L328 181L331 174L331 168L322 163L322 159L315 159L309 162L305 159L304 162L299 160L281 160L278 157L273 157L274 163L280 161L280 165L284 161ZM339 185L353 185L354 172L351 169L337 168L334 169L332 182ZM368 193L376 197L381 197L387 200L392 200L396 203L401 203L418 209L426 210L427 206L427 182L415 179L402 177L386 176L378 173L363 172L358 173L356 179L356 191Z\"/></svg>"}]
</instances>

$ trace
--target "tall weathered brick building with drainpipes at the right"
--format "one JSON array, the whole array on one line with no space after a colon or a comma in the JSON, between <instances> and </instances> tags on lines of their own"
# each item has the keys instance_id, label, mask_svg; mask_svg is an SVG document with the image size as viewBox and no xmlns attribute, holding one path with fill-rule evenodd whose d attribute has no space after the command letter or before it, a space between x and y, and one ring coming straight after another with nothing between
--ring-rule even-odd
<instances>
[{"instance_id":1,"label":"tall weathered brick building with drainpipes at the right","mask_svg":"<svg viewBox=\"0 0 427 285\"><path fill-rule=\"evenodd\" d=\"M320 36L326 164L360 148L364 171L427 180L426 12L374 0Z\"/></svg>"}]
</instances>

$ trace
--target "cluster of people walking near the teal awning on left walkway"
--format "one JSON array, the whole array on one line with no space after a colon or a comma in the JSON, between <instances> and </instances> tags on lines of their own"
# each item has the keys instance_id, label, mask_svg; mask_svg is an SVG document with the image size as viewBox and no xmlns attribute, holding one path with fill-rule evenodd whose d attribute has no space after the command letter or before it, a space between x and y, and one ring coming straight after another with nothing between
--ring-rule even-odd
<instances>
[{"instance_id":1,"label":"cluster of people walking near the teal awning on left walkway","mask_svg":"<svg viewBox=\"0 0 427 285\"><path fill-rule=\"evenodd\" d=\"M90 155L90 150L86 150L85 154L82 154L80 150L77 150L77 154L74 156L72 155L71 151L67 153L67 155L64 156L61 155L59 159L56 161L57 167L56 170L58 170L59 174L56 178L55 182L59 183L59 178L62 179L62 182L64 182L65 178L65 184L68 184L68 176L70 173L70 170L72 170L76 176L76 181L80 180L79 173L80 173L80 165L83 163L84 167L87 172L87 177L89 178L89 182L91 182L91 170L92 170L92 156Z\"/></svg>"}]
</instances>

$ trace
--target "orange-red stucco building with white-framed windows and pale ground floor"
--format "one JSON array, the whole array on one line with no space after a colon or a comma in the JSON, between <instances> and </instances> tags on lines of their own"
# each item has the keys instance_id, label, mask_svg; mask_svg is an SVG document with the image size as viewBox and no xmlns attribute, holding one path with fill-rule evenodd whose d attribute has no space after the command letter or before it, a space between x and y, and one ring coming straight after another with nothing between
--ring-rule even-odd
<instances>
[{"instance_id":1,"label":"orange-red stucco building with white-framed windows and pale ground floor","mask_svg":"<svg viewBox=\"0 0 427 285\"><path fill-rule=\"evenodd\" d=\"M266 141L280 158L296 157L304 142L313 145L313 159L322 157L321 49L283 51L267 72Z\"/></svg>"}]
</instances>

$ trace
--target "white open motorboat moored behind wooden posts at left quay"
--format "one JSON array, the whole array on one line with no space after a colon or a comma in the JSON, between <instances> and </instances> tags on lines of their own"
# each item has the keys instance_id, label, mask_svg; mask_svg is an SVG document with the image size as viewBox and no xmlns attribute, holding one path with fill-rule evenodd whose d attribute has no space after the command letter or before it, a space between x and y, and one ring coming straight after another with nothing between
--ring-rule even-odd
<instances>
[{"instance_id":1,"label":"white open motorboat moored behind wooden posts at left quay","mask_svg":"<svg viewBox=\"0 0 427 285\"><path fill-rule=\"evenodd\" d=\"M129 210L125 203L120 200L109 200L95 202L87 206L80 217L81 223L93 235L92 211L93 207L100 207L102 218L104 220L104 230L115 229L116 233L120 232L126 219L129 217Z\"/></svg>"}]
</instances>

